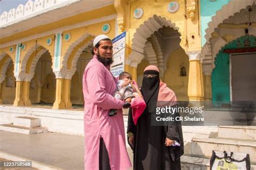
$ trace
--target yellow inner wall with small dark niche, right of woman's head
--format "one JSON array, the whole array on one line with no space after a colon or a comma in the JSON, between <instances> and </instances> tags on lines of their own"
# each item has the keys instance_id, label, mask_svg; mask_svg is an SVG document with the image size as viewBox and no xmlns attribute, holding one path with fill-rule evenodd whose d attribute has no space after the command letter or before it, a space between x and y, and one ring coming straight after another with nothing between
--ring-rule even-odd
<instances>
[{"instance_id":1,"label":"yellow inner wall with small dark niche, right of woman's head","mask_svg":"<svg viewBox=\"0 0 256 170\"><path fill-rule=\"evenodd\" d=\"M181 67L186 67L186 76L180 76ZM164 74L164 82L176 93L178 101L188 101L188 70L188 56L184 49L180 47L169 56Z\"/></svg>"}]
</instances>

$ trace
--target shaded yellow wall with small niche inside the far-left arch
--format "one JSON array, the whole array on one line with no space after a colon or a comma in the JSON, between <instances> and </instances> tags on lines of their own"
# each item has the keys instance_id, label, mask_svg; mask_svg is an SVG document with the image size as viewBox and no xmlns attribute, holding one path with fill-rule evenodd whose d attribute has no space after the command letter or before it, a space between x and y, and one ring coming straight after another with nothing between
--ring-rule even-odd
<instances>
[{"instance_id":1,"label":"shaded yellow wall with small niche inside the far-left arch","mask_svg":"<svg viewBox=\"0 0 256 170\"><path fill-rule=\"evenodd\" d=\"M6 87L6 81L11 78L14 81L15 86L15 76L14 76L14 64L11 62L10 67L6 71L5 80L2 83L2 100L3 104L14 104L15 100L15 87Z\"/></svg>"}]
</instances>

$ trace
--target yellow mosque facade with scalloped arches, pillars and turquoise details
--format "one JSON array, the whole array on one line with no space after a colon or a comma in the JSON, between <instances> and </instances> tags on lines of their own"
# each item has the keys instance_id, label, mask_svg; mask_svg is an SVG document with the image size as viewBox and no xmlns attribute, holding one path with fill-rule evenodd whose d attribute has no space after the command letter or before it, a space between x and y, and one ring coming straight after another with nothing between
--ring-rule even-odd
<instances>
[{"instance_id":1,"label":"yellow mosque facade with scalloped arches, pillars and turquoise details","mask_svg":"<svg viewBox=\"0 0 256 170\"><path fill-rule=\"evenodd\" d=\"M125 32L124 70L155 65L179 101L256 98L255 0L35 0L0 16L0 103L83 104L98 34ZM255 34L255 36L254 36Z\"/></svg>"}]
</instances>

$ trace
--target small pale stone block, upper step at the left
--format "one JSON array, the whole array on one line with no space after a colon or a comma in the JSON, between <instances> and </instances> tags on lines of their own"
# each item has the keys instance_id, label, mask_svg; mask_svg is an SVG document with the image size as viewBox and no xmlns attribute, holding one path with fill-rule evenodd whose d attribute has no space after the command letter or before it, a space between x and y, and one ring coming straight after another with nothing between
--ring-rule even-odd
<instances>
[{"instance_id":1,"label":"small pale stone block, upper step at the left","mask_svg":"<svg viewBox=\"0 0 256 170\"><path fill-rule=\"evenodd\" d=\"M41 126L41 119L28 116L19 116L14 118L14 125L25 126L27 128L36 128Z\"/></svg>"}]
</instances>

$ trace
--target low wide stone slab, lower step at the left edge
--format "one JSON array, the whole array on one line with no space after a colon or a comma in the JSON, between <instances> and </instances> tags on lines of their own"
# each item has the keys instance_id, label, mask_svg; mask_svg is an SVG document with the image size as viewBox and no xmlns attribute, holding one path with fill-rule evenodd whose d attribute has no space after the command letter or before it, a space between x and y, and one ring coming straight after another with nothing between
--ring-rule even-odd
<instances>
[{"instance_id":1,"label":"low wide stone slab, lower step at the left edge","mask_svg":"<svg viewBox=\"0 0 256 170\"><path fill-rule=\"evenodd\" d=\"M0 125L0 130L15 132L15 133L23 133L23 134L35 134L35 133L44 133L48 132L46 128L36 127L36 128L27 128L24 126L17 126L13 124L3 124Z\"/></svg>"}]
</instances>

